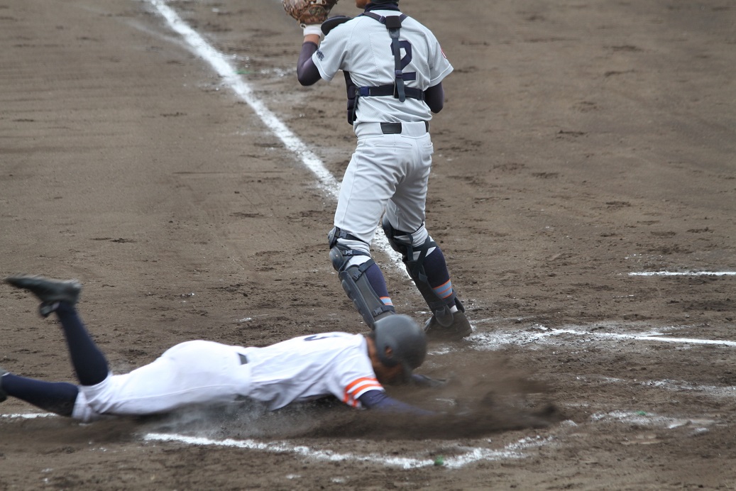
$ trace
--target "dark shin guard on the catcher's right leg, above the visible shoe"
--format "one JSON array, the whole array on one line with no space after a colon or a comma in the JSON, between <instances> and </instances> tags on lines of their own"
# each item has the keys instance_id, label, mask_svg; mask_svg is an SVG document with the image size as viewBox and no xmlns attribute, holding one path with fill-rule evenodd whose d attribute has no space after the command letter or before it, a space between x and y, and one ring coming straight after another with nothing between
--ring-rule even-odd
<instances>
[{"instance_id":1,"label":"dark shin guard on the catcher's right leg, above the visible shoe","mask_svg":"<svg viewBox=\"0 0 736 491\"><path fill-rule=\"evenodd\" d=\"M435 321L439 325L442 325L442 327L450 327L453 324L453 313L450 311L450 308L456 305L455 292L453 291L445 298L439 297L434 291L434 288L430 286L424 269L424 261L427 253L433 247L437 247L437 244L427 236L424 243L415 249L414 244L412 244L411 233L395 230L385 215L383 216L381 225L383 226L383 232L386 233L386 239L389 239L391 247L396 252L401 253L406 271L411 279L414 280L414 284L432 311ZM397 237L399 236L407 236L408 240L398 239Z\"/></svg>"}]
</instances>

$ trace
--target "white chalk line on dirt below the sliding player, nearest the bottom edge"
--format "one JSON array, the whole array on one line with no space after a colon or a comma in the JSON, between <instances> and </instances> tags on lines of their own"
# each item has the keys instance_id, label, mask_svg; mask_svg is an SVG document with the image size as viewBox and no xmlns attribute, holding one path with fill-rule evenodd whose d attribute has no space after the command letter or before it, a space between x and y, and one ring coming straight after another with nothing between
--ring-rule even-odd
<instances>
[{"instance_id":1,"label":"white chalk line on dirt below the sliding player, nearest the bottom edge","mask_svg":"<svg viewBox=\"0 0 736 491\"><path fill-rule=\"evenodd\" d=\"M506 459L523 459L526 457L524 451L542 447L553 441L553 437L527 437L517 442L506 445L501 450L489 448L464 448L464 453L456 456L445 457L443 467L457 469L467 464L478 461L498 461ZM402 469L414 469L417 467L431 467L435 465L434 459L418 459L411 457L396 457L369 453L358 455L355 453L339 453L330 450L316 450L306 445L290 445L287 442L258 442L252 439L210 439L205 437L188 437L180 434L149 433L144 440L152 442L177 442L186 445L204 445L217 447L242 448L245 450L266 451L272 453L294 453L309 459L324 460L328 462L358 461L383 464L387 467L400 467Z\"/></svg>"}]
</instances>

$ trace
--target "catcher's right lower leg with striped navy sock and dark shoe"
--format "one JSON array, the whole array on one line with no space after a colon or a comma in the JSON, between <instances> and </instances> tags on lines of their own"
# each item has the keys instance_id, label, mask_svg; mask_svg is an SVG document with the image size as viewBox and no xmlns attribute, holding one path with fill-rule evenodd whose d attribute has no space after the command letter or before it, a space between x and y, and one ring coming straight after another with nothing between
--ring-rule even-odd
<instances>
[{"instance_id":1,"label":"catcher's right lower leg with striped navy sock and dark shoe","mask_svg":"<svg viewBox=\"0 0 736 491\"><path fill-rule=\"evenodd\" d=\"M406 270L429 306L432 317L425 325L431 337L461 339L470 335L465 308L457 298L447 271L445 255L427 233L424 225L413 233L395 230L384 215L383 232L389 244L402 255Z\"/></svg>"}]
</instances>

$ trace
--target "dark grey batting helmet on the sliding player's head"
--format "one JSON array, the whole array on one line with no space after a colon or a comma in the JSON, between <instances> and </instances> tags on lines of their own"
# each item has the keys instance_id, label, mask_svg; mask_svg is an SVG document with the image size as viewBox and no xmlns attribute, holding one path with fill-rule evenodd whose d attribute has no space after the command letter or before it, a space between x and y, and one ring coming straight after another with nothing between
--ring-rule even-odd
<instances>
[{"instance_id":1,"label":"dark grey batting helmet on the sliding player's head","mask_svg":"<svg viewBox=\"0 0 736 491\"><path fill-rule=\"evenodd\" d=\"M411 371L419 367L427 356L427 339L424 330L414 319L403 314L389 315L375 321L373 339L378 351L378 359L386 367L395 367L402 364L404 377L408 378ZM386 348L391 348L391 355L386 354Z\"/></svg>"}]
</instances>

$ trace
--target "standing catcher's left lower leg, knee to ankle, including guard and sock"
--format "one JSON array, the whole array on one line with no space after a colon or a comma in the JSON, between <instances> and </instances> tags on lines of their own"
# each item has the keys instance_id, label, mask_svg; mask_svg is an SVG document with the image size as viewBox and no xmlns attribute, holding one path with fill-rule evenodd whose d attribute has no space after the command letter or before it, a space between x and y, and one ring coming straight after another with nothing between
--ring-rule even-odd
<instances>
[{"instance_id":1,"label":"standing catcher's left lower leg, knee to ankle, including guard and sock","mask_svg":"<svg viewBox=\"0 0 736 491\"><path fill-rule=\"evenodd\" d=\"M365 242L338 227L330 231L328 240L330 261L339 273L342 289L372 329L375 321L396 312L383 273L370 257Z\"/></svg>"}]
</instances>

